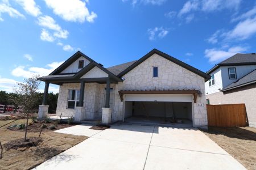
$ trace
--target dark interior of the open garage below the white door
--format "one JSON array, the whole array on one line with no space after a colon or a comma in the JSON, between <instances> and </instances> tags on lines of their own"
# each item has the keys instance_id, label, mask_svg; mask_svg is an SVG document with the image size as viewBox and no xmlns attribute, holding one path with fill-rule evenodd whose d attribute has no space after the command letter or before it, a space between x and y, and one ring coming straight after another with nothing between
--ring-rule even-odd
<instances>
[{"instance_id":1,"label":"dark interior of the open garage below the white door","mask_svg":"<svg viewBox=\"0 0 256 170\"><path fill-rule=\"evenodd\" d=\"M125 101L125 122L131 124L193 127L192 103Z\"/></svg>"}]
</instances>

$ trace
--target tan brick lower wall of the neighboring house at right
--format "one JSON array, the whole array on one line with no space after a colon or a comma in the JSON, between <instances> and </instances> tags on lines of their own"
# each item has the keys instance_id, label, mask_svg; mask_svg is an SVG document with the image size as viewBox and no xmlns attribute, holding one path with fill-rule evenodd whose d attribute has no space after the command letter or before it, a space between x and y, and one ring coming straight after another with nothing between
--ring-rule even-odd
<instances>
[{"instance_id":1,"label":"tan brick lower wall of the neighboring house at right","mask_svg":"<svg viewBox=\"0 0 256 170\"><path fill-rule=\"evenodd\" d=\"M217 92L206 96L210 104L245 103L249 126L256 128L256 84L236 88L226 92Z\"/></svg>"}]
</instances>

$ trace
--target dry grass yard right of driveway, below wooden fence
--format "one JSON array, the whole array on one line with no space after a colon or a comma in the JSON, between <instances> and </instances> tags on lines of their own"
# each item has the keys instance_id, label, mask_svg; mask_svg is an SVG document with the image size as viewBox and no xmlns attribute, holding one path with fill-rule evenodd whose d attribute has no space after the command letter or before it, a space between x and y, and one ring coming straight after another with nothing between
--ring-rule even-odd
<instances>
[{"instance_id":1,"label":"dry grass yard right of driveway, below wooden fence","mask_svg":"<svg viewBox=\"0 0 256 170\"><path fill-rule=\"evenodd\" d=\"M256 169L256 128L213 128L204 133L247 169Z\"/></svg>"}]
</instances>

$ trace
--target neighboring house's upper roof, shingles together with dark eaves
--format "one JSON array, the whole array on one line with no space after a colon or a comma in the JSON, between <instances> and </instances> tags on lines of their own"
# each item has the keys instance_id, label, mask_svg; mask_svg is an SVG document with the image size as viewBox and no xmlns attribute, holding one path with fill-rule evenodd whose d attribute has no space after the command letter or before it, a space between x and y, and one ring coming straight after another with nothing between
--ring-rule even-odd
<instances>
[{"instance_id":1,"label":"neighboring house's upper roof, shingles together with dark eaves","mask_svg":"<svg viewBox=\"0 0 256 170\"><path fill-rule=\"evenodd\" d=\"M207 74L212 73L214 70L218 69L220 66L243 66L243 65L256 65L256 54L255 53L248 53L248 54L241 54L237 53L228 59L218 63L216 66L212 67Z\"/></svg>"}]
</instances>

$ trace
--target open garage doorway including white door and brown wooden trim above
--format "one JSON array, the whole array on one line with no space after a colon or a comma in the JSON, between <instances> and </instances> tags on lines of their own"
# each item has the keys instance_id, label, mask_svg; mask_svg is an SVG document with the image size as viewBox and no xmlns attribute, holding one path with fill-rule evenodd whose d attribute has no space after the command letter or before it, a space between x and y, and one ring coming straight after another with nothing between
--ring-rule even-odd
<instances>
[{"instance_id":1,"label":"open garage doorway including white door and brown wooden trim above","mask_svg":"<svg viewBox=\"0 0 256 170\"><path fill-rule=\"evenodd\" d=\"M131 124L193 127L192 104L196 93L192 92L197 91L122 92L123 121Z\"/></svg>"}]
</instances>

